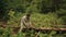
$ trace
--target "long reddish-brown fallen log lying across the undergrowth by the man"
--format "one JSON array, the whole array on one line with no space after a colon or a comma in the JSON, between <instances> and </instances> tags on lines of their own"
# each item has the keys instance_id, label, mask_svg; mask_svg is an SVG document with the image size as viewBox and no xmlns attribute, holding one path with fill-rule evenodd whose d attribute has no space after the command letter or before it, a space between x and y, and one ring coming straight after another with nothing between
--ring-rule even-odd
<instances>
[{"instance_id":1,"label":"long reddish-brown fallen log lying across the undergrowth by the man","mask_svg":"<svg viewBox=\"0 0 66 37\"><path fill-rule=\"evenodd\" d=\"M7 25L0 25L0 27L6 28ZM20 29L20 26L14 27L14 26L10 26L10 28L14 28L14 29ZM23 29L35 29L35 30L66 30L66 28L51 28L51 27L30 27L30 28L23 28Z\"/></svg>"}]
</instances>

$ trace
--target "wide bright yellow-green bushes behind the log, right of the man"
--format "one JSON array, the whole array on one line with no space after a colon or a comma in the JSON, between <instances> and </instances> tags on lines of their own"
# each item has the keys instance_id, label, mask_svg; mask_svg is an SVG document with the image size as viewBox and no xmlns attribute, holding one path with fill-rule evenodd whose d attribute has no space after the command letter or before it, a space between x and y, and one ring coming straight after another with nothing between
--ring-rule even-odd
<instances>
[{"instance_id":1,"label":"wide bright yellow-green bushes behind the log, right of the man","mask_svg":"<svg viewBox=\"0 0 66 37\"><path fill-rule=\"evenodd\" d=\"M38 27L52 27L54 25L62 25L62 18L57 18L56 13L40 14L33 13L31 21Z\"/></svg>"}]
</instances>

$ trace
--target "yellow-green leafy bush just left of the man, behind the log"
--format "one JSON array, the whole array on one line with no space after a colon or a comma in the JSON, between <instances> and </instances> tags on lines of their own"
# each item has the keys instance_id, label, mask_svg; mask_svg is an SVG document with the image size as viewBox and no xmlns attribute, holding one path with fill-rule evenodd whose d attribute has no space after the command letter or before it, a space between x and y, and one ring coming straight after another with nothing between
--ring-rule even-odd
<instances>
[{"instance_id":1,"label":"yellow-green leafy bush just left of the man, behind the log","mask_svg":"<svg viewBox=\"0 0 66 37\"><path fill-rule=\"evenodd\" d=\"M15 11L10 11L9 12L9 21L8 21L8 24L9 25L12 25L12 26L18 26L20 25L20 18L24 15L24 13L16 13Z\"/></svg>"}]
</instances>

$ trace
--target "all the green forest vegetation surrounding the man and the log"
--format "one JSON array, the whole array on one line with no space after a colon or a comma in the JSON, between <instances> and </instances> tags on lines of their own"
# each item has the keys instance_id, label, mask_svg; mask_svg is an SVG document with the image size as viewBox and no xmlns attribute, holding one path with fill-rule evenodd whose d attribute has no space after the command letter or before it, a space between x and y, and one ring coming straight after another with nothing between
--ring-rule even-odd
<instances>
[{"instance_id":1,"label":"all the green forest vegetation surrounding the man and the log","mask_svg":"<svg viewBox=\"0 0 66 37\"><path fill-rule=\"evenodd\" d=\"M38 32L33 29L12 34L13 28L10 28L20 26L20 18L29 12L35 27L62 28L58 25L66 25L66 0L0 0L0 25L1 22L8 24L6 28L0 27L0 37L35 37ZM57 34L55 30L40 30L38 34L38 37L65 36L66 33Z\"/></svg>"}]
</instances>

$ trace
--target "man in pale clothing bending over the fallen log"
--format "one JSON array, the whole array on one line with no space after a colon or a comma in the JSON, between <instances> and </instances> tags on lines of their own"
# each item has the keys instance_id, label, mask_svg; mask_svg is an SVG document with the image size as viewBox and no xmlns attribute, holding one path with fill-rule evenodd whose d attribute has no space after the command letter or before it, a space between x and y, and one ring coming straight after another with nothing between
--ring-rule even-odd
<instances>
[{"instance_id":1,"label":"man in pale clothing bending over the fallen log","mask_svg":"<svg viewBox=\"0 0 66 37\"><path fill-rule=\"evenodd\" d=\"M24 26L25 26L26 28L30 28L30 27L31 27L30 16L31 16L31 14L28 13L26 15L24 15L24 16L21 18L20 32L23 29Z\"/></svg>"}]
</instances>

